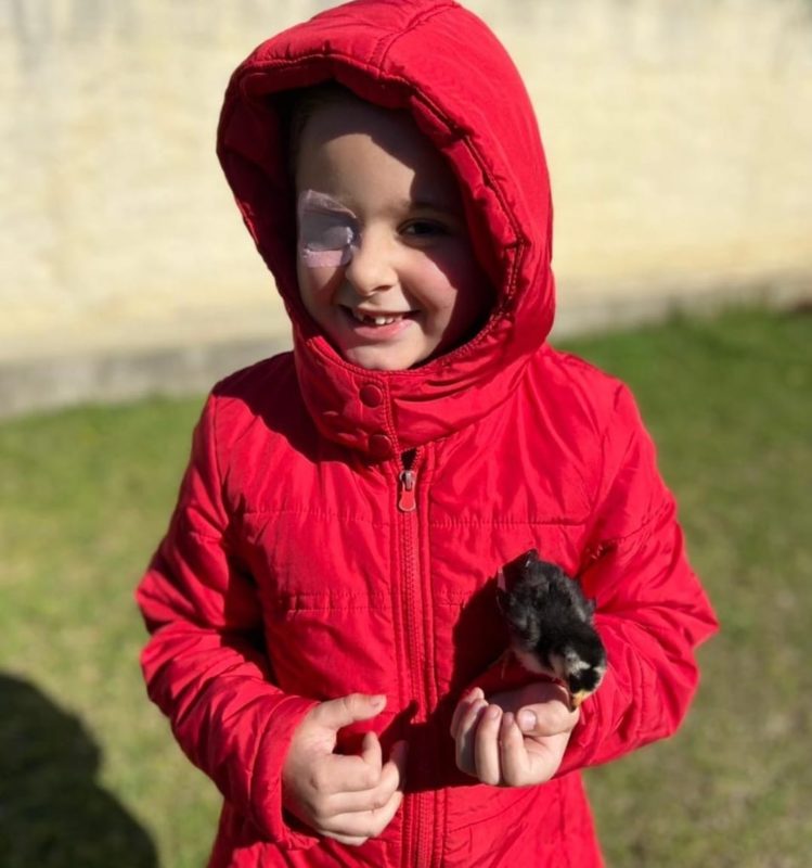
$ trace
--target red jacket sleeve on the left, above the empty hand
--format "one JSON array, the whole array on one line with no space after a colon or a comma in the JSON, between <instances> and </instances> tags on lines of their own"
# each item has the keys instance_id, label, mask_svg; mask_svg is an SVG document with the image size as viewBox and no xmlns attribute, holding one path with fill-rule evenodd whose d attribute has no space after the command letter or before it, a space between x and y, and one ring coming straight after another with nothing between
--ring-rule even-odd
<instances>
[{"instance_id":1,"label":"red jacket sleeve on the left, above the empty hand","mask_svg":"<svg viewBox=\"0 0 812 868\"><path fill-rule=\"evenodd\" d=\"M192 763L261 837L304 847L317 839L285 821L281 774L293 731L315 703L272 684L256 588L229 545L216 403L195 429L169 531L138 587L151 634L141 664Z\"/></svg>"}]
</instances>

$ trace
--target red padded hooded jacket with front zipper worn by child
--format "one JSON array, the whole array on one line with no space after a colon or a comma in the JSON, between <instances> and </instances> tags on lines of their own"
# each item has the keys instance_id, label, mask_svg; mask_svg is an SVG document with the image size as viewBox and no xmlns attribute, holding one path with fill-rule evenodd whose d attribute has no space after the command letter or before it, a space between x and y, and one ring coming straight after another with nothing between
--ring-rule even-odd
<instances>
[{"instance_id":1,"label":"red padded hooded jacket with front zipper worn by child","mask_svg":"<svg viewBox=\"0 0 812 868\"><path fill-rule=\"evenodd\" d=\"M476 337L416 369L344 361L298 298L286 91L331 78L444 154L498 290ZM628 390L545 343L550 182L513 63L453 2L358 0L240 66L218 153L295 348L214 390L138 590L150 695L224 795L211 865L600 865L578 769L674 731L716 622ZM556 777L499 789L456 770L449 723L505 647L493 577L531 547L595 599L609 668ZM410 766L392 822L351 848L295 826L280 777L304 715L356 691L387 694L365 727Z\"/></svg>"}]
</instances>

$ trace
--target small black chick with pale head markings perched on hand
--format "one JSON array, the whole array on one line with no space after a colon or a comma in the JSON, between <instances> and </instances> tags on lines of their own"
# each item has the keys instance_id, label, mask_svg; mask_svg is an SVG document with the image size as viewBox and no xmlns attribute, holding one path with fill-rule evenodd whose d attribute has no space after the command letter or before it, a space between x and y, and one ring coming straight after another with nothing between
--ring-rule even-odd
<instances>
[{"instance_id":1,"label":"small black chick with pale head markings perched on hand","mask_svg":"<svg viewBox=\"0 0 812 868\"><path fill-rule=\"evenodd\" d=\"M578 707L606 673L606 649L592 626L595 604L536 549L499 571L497 596L516 659L563 681Z\"/></svg>"}]
</instances>

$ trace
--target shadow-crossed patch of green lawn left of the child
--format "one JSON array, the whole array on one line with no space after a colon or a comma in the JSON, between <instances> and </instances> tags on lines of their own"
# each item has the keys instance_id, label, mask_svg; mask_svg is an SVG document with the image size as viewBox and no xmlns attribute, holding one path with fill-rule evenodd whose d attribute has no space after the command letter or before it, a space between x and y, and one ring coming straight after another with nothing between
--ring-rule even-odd
<instances>
[{"instance_id":1,"label":"shadow-crossed patch of green lawn left of the child","mask_svg":"<svg viewBox=\"0 0 812 868\"><path fill-rule=\"evenodd\" d=\"M3 868L205 864L218 799L145 702L132 602L199 404L0 426Z\"/></svg>"}]
</instances>

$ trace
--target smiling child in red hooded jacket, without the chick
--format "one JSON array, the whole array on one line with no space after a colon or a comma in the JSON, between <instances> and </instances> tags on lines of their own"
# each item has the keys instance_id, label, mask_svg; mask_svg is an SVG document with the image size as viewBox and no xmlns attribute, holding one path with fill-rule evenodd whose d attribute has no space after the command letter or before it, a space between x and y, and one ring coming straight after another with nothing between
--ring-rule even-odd
<instances>
[{"instance_id":1,"label":"smiling child in red hooded jacket, without the chick","mask_svg":"<svg viewBox=\"0 0 812 868\"><path fill-rule=\"evenodd\" d=\"M138 591L210 865L600 865L578 769L674 731L716 624L629 392L545 343L514 66L454 2L358 0L236 71L219 155L294 352L214 390ZM596 601L578 710L497 663L530 548Z\"/></svg>"}]
</instances>

